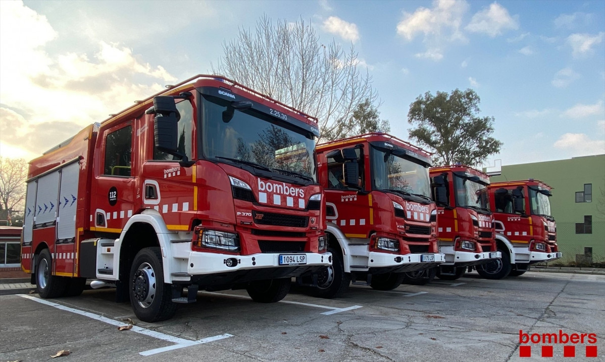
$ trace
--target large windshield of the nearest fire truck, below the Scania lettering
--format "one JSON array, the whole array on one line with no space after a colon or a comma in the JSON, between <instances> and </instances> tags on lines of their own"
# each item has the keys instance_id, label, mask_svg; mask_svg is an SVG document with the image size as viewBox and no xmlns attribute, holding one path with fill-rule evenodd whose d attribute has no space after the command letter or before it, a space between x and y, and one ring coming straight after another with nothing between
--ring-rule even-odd
<instances>
[{"instance_id":1,"label":"large windshield of the nearest fire truck, below the Scania lettering","mask_svg":"<svg viewBox=\"0 0 605 362\"><path fill-rule=\"evenodd\" d=\"M204 95L201 133L203 154L209 158L257 164L270 172L316 182L315 138L262 112L235 111L228 122L223 111L231 102Z\"/></svg>"}]
</instances>

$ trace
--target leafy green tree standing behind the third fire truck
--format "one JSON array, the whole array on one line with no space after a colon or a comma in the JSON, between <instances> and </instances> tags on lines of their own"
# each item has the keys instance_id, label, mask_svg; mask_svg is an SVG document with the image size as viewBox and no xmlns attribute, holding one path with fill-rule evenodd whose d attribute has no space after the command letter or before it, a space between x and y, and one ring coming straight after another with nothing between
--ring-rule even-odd
<instances>
[{"instance_id":1,"label":"leafy green tree standing behind the third fire truck","mask_svg":"<svg viewBox=\"0 0 605 362\"><path fill-rule=\"evenodd\" d=\"M478 166L500 152L502 142L491 137L494 117L479 116L479 95L473 89L426 92L410 105L411 140L435 152L437 165L462 163Z\"/></svg>"}]
</instances>

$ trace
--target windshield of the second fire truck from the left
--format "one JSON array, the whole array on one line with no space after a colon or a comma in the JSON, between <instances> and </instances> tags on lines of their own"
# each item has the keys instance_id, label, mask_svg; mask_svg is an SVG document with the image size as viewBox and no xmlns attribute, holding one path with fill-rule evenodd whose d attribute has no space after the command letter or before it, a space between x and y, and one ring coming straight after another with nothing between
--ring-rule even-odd
<instances>
[{"instance_id":1,"label":"windshield of the second fire truck from the left","mask_svg":"<svg viewBox=\"0 0 605 362\"><path fill-rule=\"evenodd\" d=\"M372 155L372 184L376 190L397 190L431 197L428 167L412 161L414 158L387 154L378 148L373 148Z\"/></svg>"}]
</instances>

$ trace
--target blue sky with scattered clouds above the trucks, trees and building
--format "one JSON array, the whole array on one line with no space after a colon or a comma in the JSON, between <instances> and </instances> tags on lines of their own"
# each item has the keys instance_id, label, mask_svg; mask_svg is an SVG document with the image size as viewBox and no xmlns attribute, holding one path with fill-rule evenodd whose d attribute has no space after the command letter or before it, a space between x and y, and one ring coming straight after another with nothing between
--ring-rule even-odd
<instances>
[{"instance_id":1,"label":"blue sky with scattered clouds above the trucks, trees and building","mask_svg":"<svg viewBox=\"0 0 605 362\"><path fill-rule=\"evenodd\" d=\"M211 73L263 15L353 44L396 137L419 95L471 88L504 143L484 166L605 153L605 1L0 0L0 155Z\"/></svg>"}]
</instances>

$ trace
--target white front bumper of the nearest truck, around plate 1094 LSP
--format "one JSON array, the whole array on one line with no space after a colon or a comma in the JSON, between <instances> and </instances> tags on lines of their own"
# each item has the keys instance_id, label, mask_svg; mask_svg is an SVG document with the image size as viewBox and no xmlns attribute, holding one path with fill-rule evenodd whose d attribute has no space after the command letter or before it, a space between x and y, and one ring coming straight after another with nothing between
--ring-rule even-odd
<instances>
[{"instance_id":1,"label":"white front bumper of the nearest truck, around plate 1094 LSP","mask_svg":"<svg viewBox=\"0 0 605 362\"><path fill-rule=\"evenodd\" d=\"M189 264L187 273L189 275L226 273L237 270L263 269L263 268L285 268L285 267L304 267L304 266L323 266L332 265L332 253L282 253L306 255L306 264L301 265L280 265L280 254L252 254L252 255L231 255L218 253L203 253L192 251L189 254ZM234 267L227 267L227 259L237 259L238 263Z\"/></svg>"}]
</instances>

